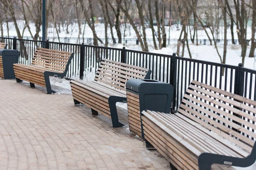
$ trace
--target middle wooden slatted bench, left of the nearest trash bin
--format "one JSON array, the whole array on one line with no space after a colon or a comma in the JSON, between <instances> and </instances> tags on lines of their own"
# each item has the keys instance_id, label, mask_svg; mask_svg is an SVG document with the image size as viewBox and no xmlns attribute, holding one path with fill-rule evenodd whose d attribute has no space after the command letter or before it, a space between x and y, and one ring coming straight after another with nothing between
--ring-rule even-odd
<instances>
[{"instance_id":1,"label":"middle wooden slatted bench, left of the nearest trash bin","mask_svg":"<svg viewBox=\"0 0 256 170\"><path fill-rule=\"evenodd\" d=\"M72 80L70 82L75 105L82 103L112 119L113 127L123 126L119 122L116 102L127 102L125 83L128 79L148 79L151 70L102 59L93 82Z\"/></svg>"}]
</instances>

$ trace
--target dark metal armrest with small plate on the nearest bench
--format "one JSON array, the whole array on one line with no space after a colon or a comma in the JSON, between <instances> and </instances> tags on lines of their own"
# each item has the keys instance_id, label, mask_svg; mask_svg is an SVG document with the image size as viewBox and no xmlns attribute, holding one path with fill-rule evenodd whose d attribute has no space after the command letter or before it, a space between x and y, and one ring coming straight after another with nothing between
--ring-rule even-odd
<instances>
[{"instance_id":1,"label":"dark metal armrest with small plate on the nearest bench","mask_svg":"<svg viewBox=\"0 0 256 170\"><path fill-rule=\"evenodd\" d=\"M212 164L224 164L236 167L249 167L256 161L256 142L253 149L245 158L218 155L214 153L202 153L198 158L199 170L211 170Z\"/></svg>"}]
</instances>

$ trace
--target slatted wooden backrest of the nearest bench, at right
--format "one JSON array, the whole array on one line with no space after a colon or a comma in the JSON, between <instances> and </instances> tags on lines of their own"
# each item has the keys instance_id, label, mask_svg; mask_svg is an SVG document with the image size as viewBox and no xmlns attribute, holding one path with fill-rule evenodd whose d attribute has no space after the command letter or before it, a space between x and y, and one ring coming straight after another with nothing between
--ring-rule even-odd
<instances>
[{"instance_id":1,"label":"slatted wooden backrest of the nearest bench, at right","mask_svg":"<svg viewBox=\"0 0 256 170\"><path fill-rule=\"evenodd\" d=\"M256 101L193 80L178 112L249 152L256 141Z\"/></svg>"}]
</instances>

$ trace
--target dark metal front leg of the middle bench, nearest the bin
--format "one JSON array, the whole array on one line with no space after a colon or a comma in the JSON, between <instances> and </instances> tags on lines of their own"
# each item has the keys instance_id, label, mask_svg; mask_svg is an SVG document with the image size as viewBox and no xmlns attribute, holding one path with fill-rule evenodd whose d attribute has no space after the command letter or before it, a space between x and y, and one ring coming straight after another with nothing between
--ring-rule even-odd
<instances>
[{"instance_id":1,"label":"dark metal front leg of the middle bench, nearest the bin","mask_svg":"<svg viewBox=\"0 0 256 170\"><path fill-rule=\"evenodd\" d=\"M122 127L124 125L120 123L118 120L116 102L127 103L127 99L125 97L119 97L119 96L110 96L108 98L108 105L111 113L112 125L113 127Z\"/></svg>"}]
</instances>

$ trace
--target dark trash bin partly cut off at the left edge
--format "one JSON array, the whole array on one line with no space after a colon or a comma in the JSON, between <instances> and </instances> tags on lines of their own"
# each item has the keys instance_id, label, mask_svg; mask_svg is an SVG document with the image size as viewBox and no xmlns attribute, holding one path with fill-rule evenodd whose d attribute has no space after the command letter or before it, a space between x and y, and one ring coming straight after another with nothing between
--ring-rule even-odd
<instances>
[{"instance_id":1,"label":"dark trash bin partly cut off at the left edge","mask_svg":"<svg viewBox=\"0 0 256 170\"><path fill-rule=\"evenodd\" d=\"M20 52L11 49L0 49L0 77L15 79L13 64L19 62Z\"/></svg>"}]
</instances>

